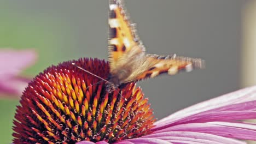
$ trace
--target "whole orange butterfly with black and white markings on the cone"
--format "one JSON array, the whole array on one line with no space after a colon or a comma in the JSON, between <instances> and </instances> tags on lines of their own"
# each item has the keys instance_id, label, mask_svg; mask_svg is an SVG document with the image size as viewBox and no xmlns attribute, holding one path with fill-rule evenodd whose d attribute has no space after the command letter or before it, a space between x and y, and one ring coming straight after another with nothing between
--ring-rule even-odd
<instances>
[{"instance_id":1,"label":"whole orange butterfly with black and white markings on the cone","mask_svg":"<svg viewBox=\"0 0 256 144\"><path fill-rule=\"evenodd\" d=\"M109 76L107 92L129 82L167 73L174 75L181 70L203 68L200 58L150 55L139 39L135 23L132 23L122 0L109 1Z\"/></svg>"}]
</instances>

